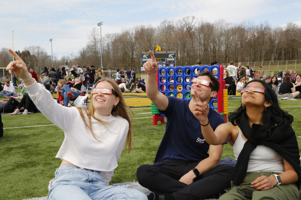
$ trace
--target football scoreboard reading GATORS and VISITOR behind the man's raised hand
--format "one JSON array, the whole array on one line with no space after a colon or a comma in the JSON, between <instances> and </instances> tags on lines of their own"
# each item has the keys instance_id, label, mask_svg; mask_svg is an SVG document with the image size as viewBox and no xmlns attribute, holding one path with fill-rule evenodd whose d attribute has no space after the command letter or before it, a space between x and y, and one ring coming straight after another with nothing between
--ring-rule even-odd
<instances>
[{"instance_id":1,"label":"football scoreboard reading GATORS and VISITOR behind the man's raised hand","mask_svg":"<svg viewBox=\"0 0 301 200\"><path fill-rule=\"evenodd\" d=\"M165 51L166 52L166 51ZM175 67L175 57L176 54L170 51L171 53L157 53L155 52L155 58L158 64L158 67ZM151 59L151 54L144 52L141 53L141 68L143 68L143 64Z\"/></svg>"}]
</instances>

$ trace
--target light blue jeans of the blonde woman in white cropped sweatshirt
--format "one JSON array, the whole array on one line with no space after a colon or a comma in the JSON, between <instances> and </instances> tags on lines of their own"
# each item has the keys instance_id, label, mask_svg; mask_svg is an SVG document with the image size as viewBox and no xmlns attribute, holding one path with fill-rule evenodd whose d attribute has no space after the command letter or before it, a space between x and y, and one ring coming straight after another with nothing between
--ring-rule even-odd
<instances>
[{"instance_id":1,"label":"light blue jeans of the blonde woman in white cropped sweatshirt","mask_svg":"<svg viewBox=\"0 0 301 200\"><path fill-rule=\"evenodd\" d=\"M48 199L141 199L147 197L135 189L107 186L100 171L63 165L56 169Z\"/></svg>"}]
</instances>

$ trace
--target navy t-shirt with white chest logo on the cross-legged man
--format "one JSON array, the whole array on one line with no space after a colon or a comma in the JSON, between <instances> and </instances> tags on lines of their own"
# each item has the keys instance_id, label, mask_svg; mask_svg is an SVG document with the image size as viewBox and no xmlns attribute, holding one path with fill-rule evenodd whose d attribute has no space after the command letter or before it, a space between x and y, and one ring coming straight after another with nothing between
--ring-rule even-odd
<instances>
[{"instance_id":1,"label":"navy t-shirt with white chest logo on the cross-legged man","mask_svg":"<svg viewBox=\"0 0 301 200\"><path fill-rule=\"evenodd\" d=\"M165 134L154 164L167 160L201 161L209 157L209 144L203 138L200 121L189 109L190 100L168 96L168 106L160 113L166 116ZM209 108L208 119L213 130L225 120Z\"/></svg>"}]
</instances>

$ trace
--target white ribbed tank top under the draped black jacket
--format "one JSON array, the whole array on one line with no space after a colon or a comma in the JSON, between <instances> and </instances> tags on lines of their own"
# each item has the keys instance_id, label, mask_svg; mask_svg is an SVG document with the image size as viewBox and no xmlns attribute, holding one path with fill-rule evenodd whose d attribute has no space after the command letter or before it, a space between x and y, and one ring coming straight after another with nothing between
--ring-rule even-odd
<instances>
[{"instance_id":1,"label":"white ribbed tank top under the draped black jacket","mask_svg":"<svg viewBox=\"0 0 301 200\"><path fill-rule=\"evenodd\" d=\"M241 130L239 129L239 134L233 144L233 151L236 160L245 143L246 141L241 136ZM247 172L260 171L284 172L283 158L270 147L257 145L250 154Z\"/></svg>"}]
</instances>

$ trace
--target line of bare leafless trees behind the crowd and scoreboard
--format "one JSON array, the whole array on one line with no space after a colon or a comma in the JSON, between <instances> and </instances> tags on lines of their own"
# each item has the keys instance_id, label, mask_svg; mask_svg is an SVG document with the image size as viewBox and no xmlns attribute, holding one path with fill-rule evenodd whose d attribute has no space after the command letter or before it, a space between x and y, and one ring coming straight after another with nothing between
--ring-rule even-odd
<instances>
[{"instance_id":1,"label":"line of bare leafless trees behind the crowd and scoreboard","mask_svg":"<svg viewBox=\"0 0 301 200\"><path fill-rule=\"evenodd\" d=\"M258 62L300 59L301 28L294 23L286 27L272 28L268 22L254 24L228 23L217 20L214 23L198 20L193 16L181 20L164 20L158 26L139 25L102 38L103 68L140 67L142 51L163 49L176 52L177 66L194 65L198 61L209 64L234 62ZM25 47L17 53L29 67L51 66L51 55L39 46ZM0 65L11 60L7 48L0 50ZM75 55L54 54L53 65L76 63L80 66L101 67L101 40L98 29L88 34L88 43Z\"/></svg>"}]
</instances>

